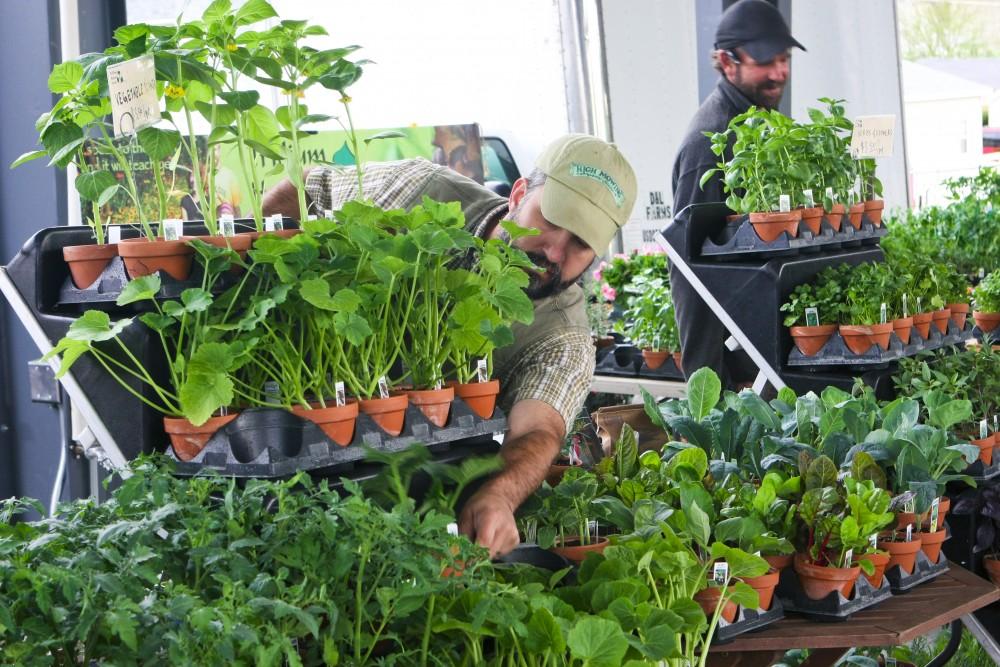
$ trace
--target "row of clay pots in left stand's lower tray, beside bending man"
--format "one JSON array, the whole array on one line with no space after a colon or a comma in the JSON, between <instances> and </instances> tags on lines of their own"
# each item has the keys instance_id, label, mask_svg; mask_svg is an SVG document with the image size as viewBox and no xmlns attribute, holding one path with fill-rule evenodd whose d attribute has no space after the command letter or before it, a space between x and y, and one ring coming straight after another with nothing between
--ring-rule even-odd
<instances>
[{"instance_id":1,"label":"row of clay pots in left stand's lower tray, beside bending man","mask_svg":"<svg viewBox=\"0 0 1000 667\"><path fill-rule=\"evenodd\" d=\"M354 427L359 412L367 414L389 435L399 435L403 431L406 407L415 405L436 426L443 427L448 422L451 402L455 396L461 398L469 408L483 419L493 416L496 398L500 393L499 380L451 383L442 389L414 390L398 392L389 398L355 399L348 398L345 405L320 407L314 403L311 409L301 406L292 408L292 414L316 424L324 434L341 447L354 440ZM190 461L204 449L212 436L220 428L236 419L239 413L212 417L201 426L194 426L186 419L164 417L164 430L170 436L174 453L181 461Z\"/></svg>"}]
</instances>

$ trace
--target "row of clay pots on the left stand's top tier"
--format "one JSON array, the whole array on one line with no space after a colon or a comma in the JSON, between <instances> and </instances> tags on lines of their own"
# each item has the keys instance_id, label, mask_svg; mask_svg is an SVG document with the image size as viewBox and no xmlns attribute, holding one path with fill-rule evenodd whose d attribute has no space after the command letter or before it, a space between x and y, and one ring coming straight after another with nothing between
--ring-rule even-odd
<instances>
[{"instance_id":1,"label":"row of clay pots on the left stand's top tier","mask_svg":"<svg viewBox=\"0 0 1000 667\"><path fill-rule=\"evenodd\" d=\"M265 232L282 237L298 234L298 229ZM260 232L243 232L235 236L182 236L177 241L157 238L150 241L144 236L122 239L119 243L104 245L66 246L63 259L69 265L70 277L77 289L86 289L94 284L105 267L115 257L121 257L125 271L131 278L148 276L163 271L175 280L187 280L191 275L194 248L188 245L191 239L200 239L219 248L229 247L246 259L251 244L261 236Z\"/></svg>"}]
</instances>

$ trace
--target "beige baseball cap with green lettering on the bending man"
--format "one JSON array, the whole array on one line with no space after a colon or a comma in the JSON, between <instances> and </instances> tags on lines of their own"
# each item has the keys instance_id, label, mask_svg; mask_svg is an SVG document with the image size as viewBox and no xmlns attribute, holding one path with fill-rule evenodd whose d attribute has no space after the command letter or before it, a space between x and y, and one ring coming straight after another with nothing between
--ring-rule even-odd
<instances>
[{"instance_id":1,"label":"beige baseball cap with green lettering on the bending man","mask_svg":"<svg viewBox=\"0 0 1000 667\"><path fill-rule=\"evenodd\" d=\"M597 137L567 134L549 144L535 166L548 177L542 188L545 219L603 255L635 204L635 172L625 156Z\"/></svg>"}]
</instances>

